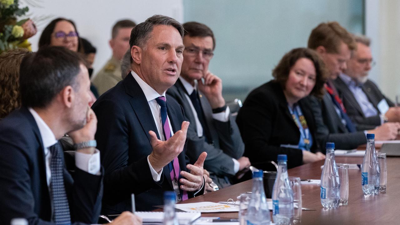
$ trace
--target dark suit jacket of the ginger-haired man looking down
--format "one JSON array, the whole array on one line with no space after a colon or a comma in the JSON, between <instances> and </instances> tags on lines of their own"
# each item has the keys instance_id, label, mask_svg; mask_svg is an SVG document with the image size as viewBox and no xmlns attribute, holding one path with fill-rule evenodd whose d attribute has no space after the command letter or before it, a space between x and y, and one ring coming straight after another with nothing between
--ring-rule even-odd
<instances>
[{"instance_id":1,"label":"dark suit jacket of the ginger-haired man looking down","mask_svg":"<svg viewBox=\"0 0 400 225\"><path fill-rule=\"evenodd\" d=\"M310 96L310 106L315 117L316 138L321 146L335 143L336 149L354 149L366 143L363 131L349 133L336 113L330 95L326 92L322 100Z\"/></svg>"}]
</instances>

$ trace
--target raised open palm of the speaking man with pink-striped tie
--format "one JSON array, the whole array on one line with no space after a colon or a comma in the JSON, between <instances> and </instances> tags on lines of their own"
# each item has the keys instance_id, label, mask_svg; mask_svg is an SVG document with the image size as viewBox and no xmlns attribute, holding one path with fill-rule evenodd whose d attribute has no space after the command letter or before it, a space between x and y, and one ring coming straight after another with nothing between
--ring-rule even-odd
<instances>
[{"instance_id":1,"label":"raised open palm of the speaking man with pink-striped tie","mask_svg":"<svg viewBox=\"0 0 400 225\"><path fill-rule=\"evenodd\" d=\"M183 121L181 130L177 131L174 136L167 141L158 140L156 133L149 131L150 143L153 151L150 153L148 159L157 173L182 152L186 141L186 132L188 131L188 127L189 122Z\"/></svg>"}]
</instances>

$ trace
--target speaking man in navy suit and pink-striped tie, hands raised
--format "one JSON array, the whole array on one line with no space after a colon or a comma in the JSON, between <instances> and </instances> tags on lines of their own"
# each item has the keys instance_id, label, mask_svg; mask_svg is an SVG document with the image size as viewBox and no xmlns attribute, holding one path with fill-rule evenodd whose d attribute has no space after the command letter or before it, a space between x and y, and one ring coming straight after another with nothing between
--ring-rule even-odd
<instances>
[{"instance_id":1,"label":"speaking man in navy suit and pink-striped tie, hands raised","mask_svg":"<svg viewBox=\"0 0 400 225\"><path fill-rule=\"evenodd\" d=\"M131 193L137 194L136 209L146 211L163 204L164 191L173 190L178 201L204 192L207 154L187 165L189 122L178 102L165 96L180 74L182 38L182 24L167 16L136 25L129 41L132 72L92 106L105 169L106 214L130 210Z\"/></svg>"}]
</instances>

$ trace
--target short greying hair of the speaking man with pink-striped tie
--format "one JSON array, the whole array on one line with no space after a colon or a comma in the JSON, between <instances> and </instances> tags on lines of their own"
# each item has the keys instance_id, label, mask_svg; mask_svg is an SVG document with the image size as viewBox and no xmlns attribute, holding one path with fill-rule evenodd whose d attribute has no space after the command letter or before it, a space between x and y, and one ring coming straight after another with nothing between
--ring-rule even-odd
<instances>
[{"instance_id":1,"label":"short greying hair of the speaking man with pink-striped tie","mask_svg":"<svg viewBox=\"0 0 400 225\"><path fill-rule=\"evenodd\" d=\"M178 30L183 40L184 29L180 22L168 16L154 15L132 29L129 40L130 48L132 49L132 46L136 45L140 48L146 49L147 41L150 39L150 34L156 25L173 26ZM133 62L132 57L130 57L130 61Z\"/></svg>"}]
</instances>

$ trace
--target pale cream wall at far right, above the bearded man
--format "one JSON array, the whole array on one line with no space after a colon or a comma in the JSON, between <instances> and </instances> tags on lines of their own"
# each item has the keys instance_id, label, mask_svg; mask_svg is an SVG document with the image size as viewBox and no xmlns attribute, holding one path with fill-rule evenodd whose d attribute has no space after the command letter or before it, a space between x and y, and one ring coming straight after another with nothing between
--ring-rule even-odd
<instances>
[{"instance_id":1,"label":"pale cream wall at far right, above the bearded man","mask_svg":"<svg viewBox=\"0 0 400 225\"><path fill-rule=\"evenodd\" d=\"M400 1L366 0L366 35L376 66L370 77L392 100L400 94Z\"/></svg>"}]
</instances>

